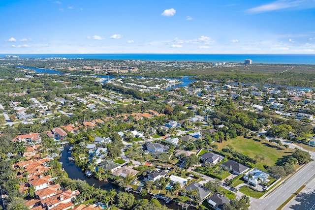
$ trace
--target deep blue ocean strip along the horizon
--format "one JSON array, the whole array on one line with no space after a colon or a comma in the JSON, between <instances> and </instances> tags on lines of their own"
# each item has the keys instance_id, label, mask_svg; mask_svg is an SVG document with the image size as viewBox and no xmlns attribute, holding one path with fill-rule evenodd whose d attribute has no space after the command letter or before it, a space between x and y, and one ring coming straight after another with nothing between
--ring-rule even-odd
<instances>
[{"instance_id":1,"label":"deep blue ocean strip along the horizon","mask_svg":"<svg viewBox=\"0 0 315 210\"><path fill-rule=\"evenodd\" d=\"M67 58L105 60L244 62L262 64L315 64L315 54L15 54L20 58ZM0 57L4 58L2 54Z\"/></svg>"}]
</instances>

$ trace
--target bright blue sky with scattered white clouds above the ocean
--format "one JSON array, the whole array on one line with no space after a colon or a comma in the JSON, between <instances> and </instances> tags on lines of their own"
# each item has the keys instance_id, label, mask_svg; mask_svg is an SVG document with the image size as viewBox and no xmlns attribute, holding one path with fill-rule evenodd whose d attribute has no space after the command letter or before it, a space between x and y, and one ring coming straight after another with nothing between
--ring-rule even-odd
<instances>
[{"instance_id":1,"label":"bright blue sky with scattered white clouds above the ocean","mask_svg":"<svg viewBox=\"0 0 315 210\"><path fill-rule=\"evenodd\" d=\"M314 54L315 0L0 0L0 54Z\"/></svg>"}]
</instances>

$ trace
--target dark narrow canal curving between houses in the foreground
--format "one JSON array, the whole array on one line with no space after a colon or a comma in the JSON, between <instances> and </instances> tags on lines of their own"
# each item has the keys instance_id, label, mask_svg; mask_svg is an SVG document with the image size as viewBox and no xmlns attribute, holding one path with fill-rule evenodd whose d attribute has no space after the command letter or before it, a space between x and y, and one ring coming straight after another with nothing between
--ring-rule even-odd
<instances>
[{"instance_id":1,"label":"dark narrow canal curving between houses in the foreground","mask_svg":"<svg viewBox=\"0 0 315 210\"><path fill-rule=\"evenodd\" d=\"M63 163L63 169L64 171L68 174L68 177L72 180L85 180L88 184L90 184L91 186L94 186L95 188L101 188L103 190L111 190L111 189L115 189L117 192L120 191L124 191L123 188L117 186L116 184L112 184L110 182L107 181L100 181L95 179L94 177L88 178L85 176L84 172L82 172L81 168L78 167L77 165L75 165L74 162L70 162L68 161L68 157L71 156L71 153L68 153L68 149L70 147L66 146L64 147L64 150L62 152L62 156L60 157L59 161ZM151 196L141 196L138 193L132 193L135 197L136 200L139 199L151 199ZM170 202L168 204L165 204L164 201L162 200L158 200L162 205L166 205L167 208L173 209L173 210L177 210L178 209L178 204L176 202ZM194 208L190 207L188 210L195 210Z\"/></svg>"}]
</instances>

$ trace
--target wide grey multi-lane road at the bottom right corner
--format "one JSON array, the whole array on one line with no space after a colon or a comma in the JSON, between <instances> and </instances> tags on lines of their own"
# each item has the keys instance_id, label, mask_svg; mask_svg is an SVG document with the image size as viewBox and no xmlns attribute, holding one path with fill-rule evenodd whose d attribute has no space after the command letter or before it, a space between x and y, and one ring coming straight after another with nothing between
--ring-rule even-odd
<instances>
[{"instance_id":1,"label":"wide grey multi-lane road at the bottom right corner","mask_svg":"<svg viewBox=\"0 0 315 210\"><path fill-rule=\"evenodd\" d=\"M313 152L312 158L315 158L315 153ZM251 198L251 210L273 210L277 209L280 205L286 201L296 190L298 190L305 182L310 180L310 178L315 174L315 161L308 163L300 171L295 173L290 179L283 182L283 184L278 187L271 194L263 199ZM312 177L311 182L314 182ZM311 200L310 200L311 201ZM304 209L303 209L304 210Z\"/></svg>"}]
</instances>

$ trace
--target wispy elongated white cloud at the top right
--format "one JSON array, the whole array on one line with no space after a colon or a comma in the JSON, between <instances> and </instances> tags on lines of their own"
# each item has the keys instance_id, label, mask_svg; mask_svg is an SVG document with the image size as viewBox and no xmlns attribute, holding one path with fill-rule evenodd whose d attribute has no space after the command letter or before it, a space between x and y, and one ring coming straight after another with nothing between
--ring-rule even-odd
<instances>
[{"instance_id":1,"label":"wispy elongated white cloud at the top right","mask_svg":"<svg viewBox=\"0 0 315 210\"><path fill-rule=\"evenodd\" d=\"M314 0L276 0L271 3L248 9L247 11L251 13L260 13L293 7L297 9L314 8L315 4Z\"/></svg>"}]
</instances>

